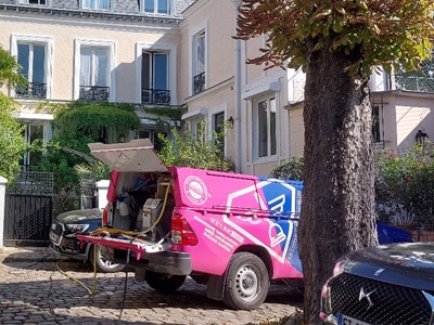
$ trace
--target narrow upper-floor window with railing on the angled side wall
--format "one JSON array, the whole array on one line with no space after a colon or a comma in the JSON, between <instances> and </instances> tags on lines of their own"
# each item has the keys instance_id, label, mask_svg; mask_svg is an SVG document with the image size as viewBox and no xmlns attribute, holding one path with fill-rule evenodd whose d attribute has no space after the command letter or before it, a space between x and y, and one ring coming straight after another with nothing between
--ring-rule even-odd
<instances>
[{"instance_id":1,"label":"narrow upper-floor window with railing on the angled side wall","mask_svg":"<svg viewBox=\"0 0 434 325\"><path fill-rule=\"evenodd\" d=\"M193 37L193 94L205 90L205 30Z\"/></svg>"}]
</instances>

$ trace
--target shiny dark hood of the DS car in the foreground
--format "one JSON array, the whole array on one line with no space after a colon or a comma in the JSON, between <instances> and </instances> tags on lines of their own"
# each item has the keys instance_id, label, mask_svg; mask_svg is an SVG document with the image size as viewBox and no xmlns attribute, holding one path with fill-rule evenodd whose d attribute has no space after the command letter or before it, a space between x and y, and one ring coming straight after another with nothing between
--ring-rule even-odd
<instances>
[{"instance_id":1,"label":"shiny dark hood of the DS car in the foreground","mask_svg":"<svg viewBox=\"0 0 434 325\"><path fill-rule=\"evenodd\" d=\"M434 290L434 243L400 243L347 253L344 272L375 281Z\"/></svg>"}]
</instances>

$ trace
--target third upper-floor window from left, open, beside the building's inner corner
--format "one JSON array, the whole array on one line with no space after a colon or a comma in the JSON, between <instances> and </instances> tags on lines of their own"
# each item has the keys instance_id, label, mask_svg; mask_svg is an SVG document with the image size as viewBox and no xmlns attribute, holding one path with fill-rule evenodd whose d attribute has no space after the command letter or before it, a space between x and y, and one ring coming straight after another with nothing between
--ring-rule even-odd
<instances>
[{"instance_id":1,"label":"third upper-floor window from left, open, beside the building's inner corner","mask_svg":"<svg viewBox=\"0 0 434 325\"><path fill-rule=\"evenodd\" d=\"M142 104L170 104L168 53L143 52Z\"/></svg>"}]
</instances>

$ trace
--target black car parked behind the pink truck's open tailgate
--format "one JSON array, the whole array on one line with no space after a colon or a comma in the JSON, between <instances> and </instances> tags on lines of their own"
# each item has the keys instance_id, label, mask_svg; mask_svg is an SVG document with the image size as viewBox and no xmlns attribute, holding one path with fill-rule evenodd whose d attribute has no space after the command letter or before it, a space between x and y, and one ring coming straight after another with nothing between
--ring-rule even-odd
<instances>
[{"instance_id":1,"label":"black car parked behind the pink truck's open tailgate","mask_svg":"<svg viewBox=\"0 0 434 325\"><path fill-rule=\"evenodd\" d=\"M89 243L81 243L77 234L89 234L99 229L102 223L101 209L82 209L59 214L51 223L50 248L64 257L90 261L97 264L98 270L106 273L124 270L124 264L116 264L105 260L100 246L94 249Z\"/></svg>"}]
</instances>

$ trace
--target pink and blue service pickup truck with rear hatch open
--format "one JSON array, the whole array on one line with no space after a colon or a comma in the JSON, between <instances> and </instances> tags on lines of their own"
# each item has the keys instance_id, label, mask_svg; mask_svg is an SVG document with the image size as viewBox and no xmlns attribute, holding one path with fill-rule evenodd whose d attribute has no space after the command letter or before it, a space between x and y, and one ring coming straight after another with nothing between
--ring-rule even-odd
<instances>
[{"instance_id":1,"label":"pink and blue service pickup truck with rear hatch open","mask_svg":"<svg viewBox=\"0 0 434 325\"><path fill-rule=\"evenodd\" d=\"M166 167L148 139L89 144L112 168L103 226L82 242L162 291L187 276L233 309L258 308L270 283L302 278L302 182Z\"/></svg>"}]
</instances>

